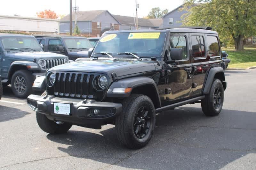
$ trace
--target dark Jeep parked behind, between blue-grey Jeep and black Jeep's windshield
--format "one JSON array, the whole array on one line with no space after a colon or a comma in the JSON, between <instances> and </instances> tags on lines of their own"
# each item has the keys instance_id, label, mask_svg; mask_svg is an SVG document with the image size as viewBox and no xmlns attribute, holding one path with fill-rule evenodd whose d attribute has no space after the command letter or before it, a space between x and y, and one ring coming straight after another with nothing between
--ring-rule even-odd
<instances>
[{"instance_id":1,"label":"dark Jeep parked behind, between blue-grey Jeep and black Jeep's windshield","mask_svg":"<svg viewBox=\"0 0 256 170\"><path fill-rule=\"evenodd\" d=\"M35 35L46 52L68 56L69 60L88 57L89 48L93 48L87 38L67 35Z\"/></svg>"}]
</instances>

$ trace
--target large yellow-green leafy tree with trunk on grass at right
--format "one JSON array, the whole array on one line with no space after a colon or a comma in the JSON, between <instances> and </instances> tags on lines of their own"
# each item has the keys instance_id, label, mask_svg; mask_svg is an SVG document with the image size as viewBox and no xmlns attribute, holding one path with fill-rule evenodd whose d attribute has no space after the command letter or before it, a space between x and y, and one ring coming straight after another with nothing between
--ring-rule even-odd
<instances>
[{"instance_id":1,"label":"large yellow-green leafy tree with trunk on grass at right","mask_svg":"<svg viewBox=\"0 0 256 170\"><path fill-rule=\"evenodd\" d=\"M185 0L181 10L188 11L183 25L210 26L222 40L231 36L237 51L244 49L244 37L256 33L255 0Z\"/></svg>"}]
</instances>

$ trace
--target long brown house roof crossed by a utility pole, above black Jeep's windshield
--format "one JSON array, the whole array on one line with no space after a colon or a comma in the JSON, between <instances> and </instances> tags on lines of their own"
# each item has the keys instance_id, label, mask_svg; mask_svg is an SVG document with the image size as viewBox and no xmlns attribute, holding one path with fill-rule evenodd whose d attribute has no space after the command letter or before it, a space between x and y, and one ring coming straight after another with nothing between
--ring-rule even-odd
<instances>
[{"instance_id":1,"label":"long brown house roof crossed by a utility pole, above black Jeep's windshield","mask_svg":"<svg viewBox=\"0 0 256 170\"><path fill-rule=\"evenodd\" d=\"M127 17L122 15L113 15L122 25L134 25L134 17ZM136 20L136 18L135 18ZM138 18L139 26L154 27L154 24L146 18Z\"/></svg>"}]
</instances>

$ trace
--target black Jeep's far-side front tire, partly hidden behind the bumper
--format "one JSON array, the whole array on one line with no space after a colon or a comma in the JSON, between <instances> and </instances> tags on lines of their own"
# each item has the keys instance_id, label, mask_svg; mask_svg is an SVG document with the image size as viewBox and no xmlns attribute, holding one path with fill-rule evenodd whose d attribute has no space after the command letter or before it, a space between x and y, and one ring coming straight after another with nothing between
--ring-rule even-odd
<instances>
[{"instance_id":1,"label":"black Jeep's far-side front tire, partly hidden behind the bumper","mask_svg":"<svg viewBox=\"0 0 256 170\"><path fill-rule=\"evenodd\" d=\"M41 96L46 96L46 90L41 94ZM49 134L60 134L67 132L72 124L63 123L57 124L56 122L49 120L46 115L36 112L36 121L39 127L46 133Z\"/></svg>"}]
</instances>

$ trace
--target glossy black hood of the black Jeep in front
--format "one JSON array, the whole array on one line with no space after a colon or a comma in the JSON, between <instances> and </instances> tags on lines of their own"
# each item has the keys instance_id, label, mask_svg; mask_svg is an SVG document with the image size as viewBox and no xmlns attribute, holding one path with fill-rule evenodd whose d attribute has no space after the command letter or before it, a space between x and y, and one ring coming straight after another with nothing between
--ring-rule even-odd
<instances>
[{"instance_id":1,"label":"glossy black hood of the black Jeep in front","mask_svg":"<svg viewBox=\"0 0 256 170\"><path fill-rule=\"evenodd\" d=\"M84 58L76 62L59 65L50 71L68 71L68 72L95 72L107 74L111 78L111 74L115 72L118 77L142 73L156 70L155 63L151 59L136 60L131 58L110 59L99 58L92 60Z\"/></svg>"}]
</instances>

